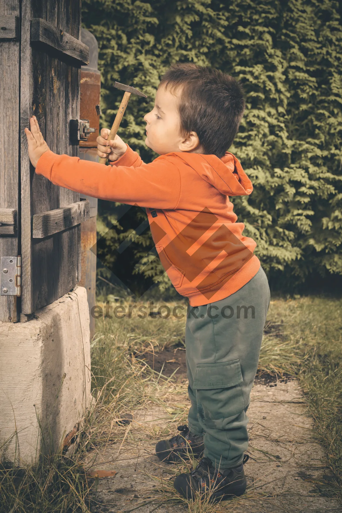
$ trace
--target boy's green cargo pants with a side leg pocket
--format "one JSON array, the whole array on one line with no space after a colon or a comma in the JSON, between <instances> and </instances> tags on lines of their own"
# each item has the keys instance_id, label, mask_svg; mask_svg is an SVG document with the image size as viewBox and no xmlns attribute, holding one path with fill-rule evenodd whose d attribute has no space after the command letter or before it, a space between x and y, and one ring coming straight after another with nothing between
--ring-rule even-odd
<instances>
[{"instance_id":1,"label":"boy's green cargo pants with a side leg pocket","mask_svg":"<svg viewBox=\"0 0 342 513\"><path fill-rule=\"evenodd\" d=\"M192 432L204 434L204 455L216 468L238 466L248 448L246 411L269 305L270 289L260 267L228 298L188 306L188 423Z\"/></svg>"}]
</instances>

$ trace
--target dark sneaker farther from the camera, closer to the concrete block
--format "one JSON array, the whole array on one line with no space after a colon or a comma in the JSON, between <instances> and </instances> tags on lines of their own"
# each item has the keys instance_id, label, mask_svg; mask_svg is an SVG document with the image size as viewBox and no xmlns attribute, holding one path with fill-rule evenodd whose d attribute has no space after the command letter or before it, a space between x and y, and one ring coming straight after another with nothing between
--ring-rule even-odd
<instances>
[{"instance_id":1,"label":"dark sneaker farther from the camera, closer to the concrete block","mask_svg":"<svg viewBox=\"0 0 342 513\"><path fill-rule=\"evenodd\" d=\"M182 462L188 456L195 458L203 456L203 435L194 435L188 426L178 426L182 435L176 435L170 440L161 440L155 446L155 453L160 461L165 463Z\"/></svg>"}]
</instances>

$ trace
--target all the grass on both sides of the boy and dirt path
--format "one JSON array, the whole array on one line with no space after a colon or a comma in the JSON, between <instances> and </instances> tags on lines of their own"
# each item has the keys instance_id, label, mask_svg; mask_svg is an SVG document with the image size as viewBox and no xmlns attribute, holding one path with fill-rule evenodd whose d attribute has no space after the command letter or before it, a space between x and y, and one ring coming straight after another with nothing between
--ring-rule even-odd
<instances>
[{"instance_id":1,"label":"all the grass on both sides of the boy and dirt path","mask_svg":"<svg viewBox=\"0 0 342 513\"><path fill-rule=\"evenodd\" d=\"M176 303L168 303L171 307ZM128 307L128 302L124 304ZM156 306L159 306L156 302ZM268 314L261 348L260 377L296 376L305 392L315 432L323 444L334 479L330 493L342 503L342 323L341 300L319 297L274 299ZM128 311L128 308L127 308ZM92 345L92 394L96 402L79 433L73 455L56 453L42 459L37 468L0 468L0 511L3 513L72 513L93 510L98 480L89 478L96 449L116 443L137 443L172 436L173 423L186 422L184 383L154 372L138 360L147 351L184 346L185 318L132 318L96 321ZM177 395L178 394L178 395ZM175 397L177 400L175 401ZM117 424L122 413L154 404L168 413L163 428L151 425L134 433ZM171 422L172 421L172 422ZM189 465L185 462L184 465ZM173 468L179 473L185 467ZM151 501L172 504L182 501L172 481L156 479ZM208 498L207 498L208 499ZM155 502L154 502L155 503ZM199 498L183 501L189 513L220 510ZM132 506L134 508L134 506ZM225 505L227 510L227 504Z\"/></svg>"}]
</instances>

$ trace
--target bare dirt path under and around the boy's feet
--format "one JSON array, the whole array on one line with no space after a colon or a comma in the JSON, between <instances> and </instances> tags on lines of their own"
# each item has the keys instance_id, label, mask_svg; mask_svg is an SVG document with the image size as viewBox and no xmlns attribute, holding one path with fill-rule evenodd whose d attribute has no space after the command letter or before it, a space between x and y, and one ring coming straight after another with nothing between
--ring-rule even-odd
<instances>
[{"instance_id":1,"label":"bare dirt path under and around the boy's feet","mask_svg":"<svg viewBox=\"0 0 342 513\"><path fill-rule=\"evenodd\" d=\"M336 499L327 497L331 477L324 451L315 442L312 419L295 380L256 383L252 389L246 494L206 509L176 503L172 481L177 469L160 463L154 446L158 440L170 438L180 420L186 421L186 387L182 373L174 391L167 398L160 397L160 405L132 412L133 422L125 426L122 442L91 453L91 459L96 456L93 470L117 471L115 477L98 480L98 506L93 511L341 511ZM165 437L168 431L170 435Z\"/></svg>"}]
</instances>

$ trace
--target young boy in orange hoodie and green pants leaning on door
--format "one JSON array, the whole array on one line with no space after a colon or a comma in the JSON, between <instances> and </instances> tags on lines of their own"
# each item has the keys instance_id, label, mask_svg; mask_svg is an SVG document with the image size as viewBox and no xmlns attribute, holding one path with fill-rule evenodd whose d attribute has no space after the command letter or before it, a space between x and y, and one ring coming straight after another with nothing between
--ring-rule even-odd
<instances>
[{"instance_id":1,"label":"young boy in orange hoodie and green pants leaning on door","mask_svg":"<svg viewBox=\"0 0 342 513\"><path fill-rule=\"evenodd\" d=\"M172 65L146 114L146 146L160 156L144 164L120 137L97 138L106 166L56 155L35 116L25 129L37 174L103 200L146 207L159 258L176 290L189 298L186 358L189 426L157 443L160 460L193 451L195 470L174 486L186 498L210 489L215 500L246 490L247 415L270 303L264 270L244 236L229 196L250 194L251 181L227 152L245 109L230 75L194 64Z\"/></svg>"}]
</instances>

